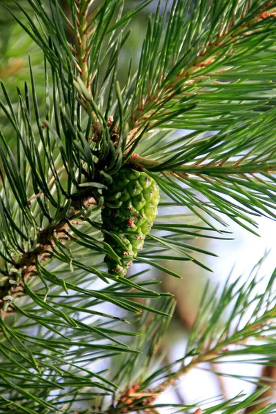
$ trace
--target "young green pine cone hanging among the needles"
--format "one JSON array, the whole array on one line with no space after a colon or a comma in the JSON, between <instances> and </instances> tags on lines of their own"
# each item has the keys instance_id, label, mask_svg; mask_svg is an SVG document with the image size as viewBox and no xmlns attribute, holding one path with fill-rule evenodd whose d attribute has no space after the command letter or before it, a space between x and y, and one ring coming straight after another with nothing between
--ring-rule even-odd
<instances>
[{"instance_id":1,"label":"young green pine cone hanging among the needles","mask_svg":"<svg viewBox=\"0 0 276 414\"><path fill-rule=\"evenodd\" d=\"M115 233L122 243L107 233L103 233L103 237L120 257L121 265L108 255L104 261L111 275L124 276L143 248L144 239L157 215L159 187L146 172L131 168L122 168L112 178L112 184L103 191L101 217L103 229Z\"/></svg>"}]
</instances>

